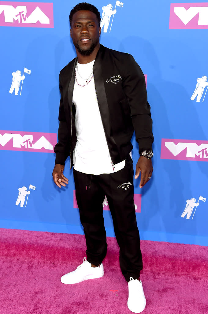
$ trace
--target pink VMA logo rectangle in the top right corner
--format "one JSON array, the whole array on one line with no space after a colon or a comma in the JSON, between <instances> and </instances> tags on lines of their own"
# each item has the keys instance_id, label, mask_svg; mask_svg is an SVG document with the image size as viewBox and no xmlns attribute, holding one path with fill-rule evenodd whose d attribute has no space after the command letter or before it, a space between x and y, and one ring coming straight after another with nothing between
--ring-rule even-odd
<instances>
[{"instance_id":1,"label":"pink VMA logo rectangle in the top right corner","mask_svg":"<svg viewBox=\"0 0 208 314\"><path fill-rule=\"evenodd\" d=\"M208 29L208 3L171 3L169 29Z\"/></svg>"}]
</instances>

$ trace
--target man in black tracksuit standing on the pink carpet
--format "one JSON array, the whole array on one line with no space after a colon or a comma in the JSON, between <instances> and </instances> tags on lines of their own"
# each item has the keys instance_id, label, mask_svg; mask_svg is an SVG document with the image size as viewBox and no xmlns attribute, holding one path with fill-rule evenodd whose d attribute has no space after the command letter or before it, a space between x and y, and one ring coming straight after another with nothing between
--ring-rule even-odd
<instances>
[{"instance_id":1,"label":"man in black tracksuit standing on the pink carpet","mask_svg":"<svg viewBox=\"0 0 208 314\"><path fill-rule=\"evenodd\" d=\"M60 72L59 141L54 149L53 178L58 187L68 183L63 170L70 156L87 260L62 276L61 282L74 284L103 276L107 243L102 203L106 195L120 247L120 267L128 282L127 306L140 313L146 300L140 281L143 266L130 140L135 130L141 155L135 178L141 171L143 187L153 171L152 120L140 67L131 55L100 45L99 25L100 13L91 4L79 3L70 12L70 35L77 57ZM126 182L130 184L123 184Z\"/></svg>"}]
</instances>

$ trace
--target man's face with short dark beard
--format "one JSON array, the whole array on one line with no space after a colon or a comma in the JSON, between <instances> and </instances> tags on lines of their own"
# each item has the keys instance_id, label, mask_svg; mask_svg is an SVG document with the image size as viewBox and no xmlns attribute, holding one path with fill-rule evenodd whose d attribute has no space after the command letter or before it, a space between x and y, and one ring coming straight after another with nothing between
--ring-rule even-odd
<instances>
[{"instance_id":1,"label":"man's face with short dark beard","mask_svg":"<svg viewBox=\"0 0 208 314\"><path fill-rule=\"evenodd\" d=\"M83 56L89 56L99 45L101 28L96 14L91 11L76 12L71 21L70 35L75 48Z\"/></svg>"}]
</instances>

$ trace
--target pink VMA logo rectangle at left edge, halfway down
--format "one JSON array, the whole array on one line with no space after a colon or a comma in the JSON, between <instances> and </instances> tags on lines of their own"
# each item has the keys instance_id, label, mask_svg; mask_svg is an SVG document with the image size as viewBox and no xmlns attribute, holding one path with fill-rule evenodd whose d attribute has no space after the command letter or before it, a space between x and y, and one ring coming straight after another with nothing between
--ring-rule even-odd
<instances>
[{"instance_id":1,"label":"pink VMA logo rectangle at left edge, halfway down","mask_svg":"<svg viewBox=\"0 0 208 314\"><path fill-rule=\"evenodd\" d=\"M53 153L56 133L18 132L0 130L0 149Z\"/></svg>"}]
</instances>

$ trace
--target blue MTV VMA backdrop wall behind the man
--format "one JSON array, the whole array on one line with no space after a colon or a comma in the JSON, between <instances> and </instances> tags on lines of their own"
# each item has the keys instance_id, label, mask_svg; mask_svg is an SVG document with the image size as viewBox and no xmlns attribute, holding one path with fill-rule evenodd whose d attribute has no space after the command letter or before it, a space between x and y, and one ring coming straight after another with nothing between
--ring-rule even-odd
<instances>
[{"instance_id":1,"label":"blue MTV VMA backdrop wall behind the man","mask_svg":"<svg viewBox=\"0 0 208 314\"><path fill-rule=\"evenodd\" d=\"M101 44L132 54L147 75L154 172L142 189L134 182L141 239L208 245L208 27L206 21L200 24L208 3L122 1L111 1L112 6L104 0L91 3L105 18ZM56 187L51 175L59 72L75 57L68 20L75 4L0 1L2 228L83 234L69 160L66 188ZM190 16L190 7L196 8L195 16ZM135 166L134 137L132 143ZM191 143L196 143L195 150ZM193 156L188 158L190 151ZM110 212L103 214L107 236L114 236Z\"/></svg>"}]
</instances>

